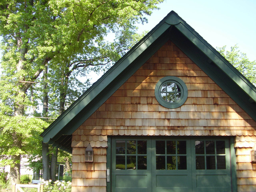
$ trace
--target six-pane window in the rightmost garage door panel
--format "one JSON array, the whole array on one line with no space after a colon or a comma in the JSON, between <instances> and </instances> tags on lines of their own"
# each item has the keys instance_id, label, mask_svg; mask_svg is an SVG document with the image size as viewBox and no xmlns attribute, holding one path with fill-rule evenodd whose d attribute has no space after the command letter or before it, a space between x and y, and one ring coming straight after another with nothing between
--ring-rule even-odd
<instances>
[{"instance_id":1,"label":"six-pane window in the rightmost garage door panel","mask_svg":"<svg viewBox=\"0 0 256 192\"><path fill-rule=\"evenodd\" d=\"M197 170L226 169L225 141L197 140L195 149Z\"/></svg>"}]
</instances>

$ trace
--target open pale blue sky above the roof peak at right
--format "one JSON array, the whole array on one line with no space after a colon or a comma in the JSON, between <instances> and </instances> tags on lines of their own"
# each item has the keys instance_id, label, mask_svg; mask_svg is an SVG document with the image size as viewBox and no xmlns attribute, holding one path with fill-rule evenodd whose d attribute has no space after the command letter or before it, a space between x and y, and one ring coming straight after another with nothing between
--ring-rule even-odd
<instances>
[{"instance_id":1,"label":"open pale blue sky above the roof peak at right","mask_svg":"<svg viewBox=\"0 0 256 192\"><path fill-rule=\"evenodd\" d=\"M214 48L238 44L256 60L256 0L165 0L139 32L151 30L174 10Z\"/></svg>"}]
</instances>

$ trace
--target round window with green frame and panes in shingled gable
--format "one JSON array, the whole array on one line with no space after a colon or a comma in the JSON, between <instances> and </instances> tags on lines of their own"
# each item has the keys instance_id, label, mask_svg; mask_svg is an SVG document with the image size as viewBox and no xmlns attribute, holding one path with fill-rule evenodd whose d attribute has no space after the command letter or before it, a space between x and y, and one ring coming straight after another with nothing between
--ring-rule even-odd
<instances>
[{"instance_id":1,"label":"round window with green frame and panes in shingled gable","mask_svg":"<svg viewBox=\"0 0 256 192\"><path fill-rule=\"evenodd\" d=\"M187 100L188 88L180 78L167 76L156 84L155 96L162 106L174 109L182 106Z\"/></svg>"}]
</instances>

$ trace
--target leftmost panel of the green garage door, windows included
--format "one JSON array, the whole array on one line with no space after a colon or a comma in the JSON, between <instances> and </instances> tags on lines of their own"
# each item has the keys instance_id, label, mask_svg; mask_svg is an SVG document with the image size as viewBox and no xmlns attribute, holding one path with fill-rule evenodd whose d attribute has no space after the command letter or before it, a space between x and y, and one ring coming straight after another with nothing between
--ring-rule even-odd
<instances>
[{"instance_id":1,"label":"leftmost panel of the green garage door, windows included","mask_svg":"<svg viewBox=\"0 0 256 192\"><path fill-rule=\"evenodd\" d=\"M112 139L112 192L151 192L151 139Z\"/></svg>"}]
</instances>

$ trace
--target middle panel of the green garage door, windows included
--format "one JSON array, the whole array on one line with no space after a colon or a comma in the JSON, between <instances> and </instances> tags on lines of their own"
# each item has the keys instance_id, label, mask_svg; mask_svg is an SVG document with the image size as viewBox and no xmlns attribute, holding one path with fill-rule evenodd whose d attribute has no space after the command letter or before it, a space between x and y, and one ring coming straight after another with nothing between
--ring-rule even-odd
<instances>
[{"instance_id":1,"label":"middle panel of the green garage door, windows included","mask_svg":"<svg viewBox=\"0 0 256 192\"><path fill-rule=\"evenodd\" d=\"M190 142L152 139L152 191L191 192Z\"/></svg>"}]
</instances>

